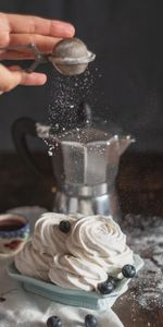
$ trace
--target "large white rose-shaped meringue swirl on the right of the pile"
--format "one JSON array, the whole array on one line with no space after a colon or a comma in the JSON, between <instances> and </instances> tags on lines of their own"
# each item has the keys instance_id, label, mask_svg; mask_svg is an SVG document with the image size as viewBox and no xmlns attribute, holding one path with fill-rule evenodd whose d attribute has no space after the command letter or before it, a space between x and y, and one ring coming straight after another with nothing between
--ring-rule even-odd
<instances>
[{"instance_id":1,"label":"large white rose-shaped meringue swirl on the right of the pile","mask_svg":"<svg viewBox=\"0 0 163 327\"><path fill-rule=\"evenodd\" d=\"M133 251L120 226L104 216L90 216L76 221L66 239L68 252L80 259L117 274L125 264L133 264Z\"/></svg>"}]
</instances>

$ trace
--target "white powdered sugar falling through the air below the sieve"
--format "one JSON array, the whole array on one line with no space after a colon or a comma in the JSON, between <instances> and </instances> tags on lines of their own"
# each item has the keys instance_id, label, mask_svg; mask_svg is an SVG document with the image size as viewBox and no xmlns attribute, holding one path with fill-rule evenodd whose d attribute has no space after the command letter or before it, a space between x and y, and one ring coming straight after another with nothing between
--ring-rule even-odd
<instances>
[{"instance_id":1,"label":"white powdered sugar falling through the air below the sieve","mask_svg":"<svg viewBox=\"0 0 163 327\"><path fill-rule=\"evenodd\" d=\"M50 101L48 106L48 125L51 136L66 137L70 130L79 132L80 117L79 106L86 101L91 107L96 105L97 98L93 95L97 78L101 74L97 68L88 69L80 75L64 76L53 74L51 76ZM52 140L52 137L50 137ZM49 147L49 155L52 155L53 144L46 141Z\"/></svg>"}]
</instances>

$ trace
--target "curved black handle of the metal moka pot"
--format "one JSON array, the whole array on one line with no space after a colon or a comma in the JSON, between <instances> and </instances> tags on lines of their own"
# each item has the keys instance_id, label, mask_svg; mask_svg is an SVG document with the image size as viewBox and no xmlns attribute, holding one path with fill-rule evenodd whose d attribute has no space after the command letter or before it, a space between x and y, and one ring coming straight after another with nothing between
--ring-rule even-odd
<instances>
[{"instance_id":1,"label":"curved black handle of the metal moka pot","mask_svg":"<svg viewBox=\"0 0 163 327\"><path fill-rule=\"evenodd\" d=\"M26 136L38 137L36 121L32 118L20 118L12 125L12 138L17 153L25 160L30 170L39 178L42 177L40 168L36 165L34 156L27 145Z\"/></svg>"}]
</instances>

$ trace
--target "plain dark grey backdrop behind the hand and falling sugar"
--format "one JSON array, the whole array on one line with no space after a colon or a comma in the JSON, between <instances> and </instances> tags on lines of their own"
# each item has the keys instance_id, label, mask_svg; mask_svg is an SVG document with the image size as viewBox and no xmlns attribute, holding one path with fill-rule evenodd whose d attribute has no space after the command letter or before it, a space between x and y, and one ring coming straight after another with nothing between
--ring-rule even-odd
<instances>
[{"instance_id":1,"label":"plain dark grey backdrop behind the hand and falling sugar","mask_svg":"<svg viewBox=\"0 0 163 327\"><path fill-rule=\"evenodd\" d=\"M0 11L72 22L96 55L92 111L136 136L130 150L162 152L163 4L156 0L1 0ZM0 150L13 150L11 125L20 117L46 122L49 82L18 86L0 98ZM55 74L55 73L54 73ZM54 87L54 86L53 86ZM96 99L95 104L92 98Z\"/></svg>"}]
</instances>

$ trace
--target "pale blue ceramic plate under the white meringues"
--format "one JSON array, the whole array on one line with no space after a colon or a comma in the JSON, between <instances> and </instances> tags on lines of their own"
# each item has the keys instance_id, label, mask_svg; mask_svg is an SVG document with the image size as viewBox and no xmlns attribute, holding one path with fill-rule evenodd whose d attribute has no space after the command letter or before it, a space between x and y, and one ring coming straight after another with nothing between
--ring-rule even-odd
<instances>
[{"instance_id":1,"label":"pale blue ceramic plate under the white meringues","mask_svg":"<svg viewBox=\"0 0 163 327\"><path fill-rule=\"evenodd\" d=\"M134 261L136 270L138 271L143 266L143 261L139 255L134 255ZM97 292L67 290L53 283L21 275L13 263L8 266L8 274L12 278L21 281L26 291L39 294L62 304L82 306L92 310L111 307L116 299L127 291L128 282L130 280L126 278L122 279L118 281L116 289L111 294L101 295Z\"/></svg>"}]
</instances>

